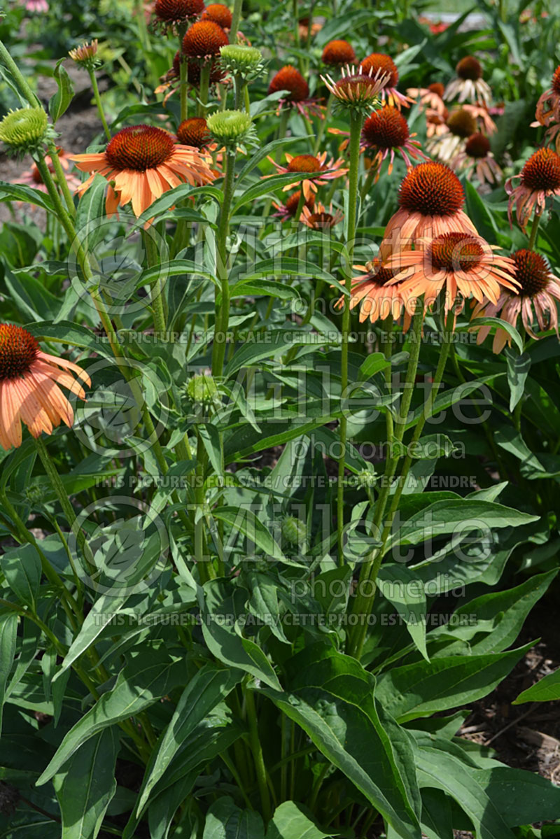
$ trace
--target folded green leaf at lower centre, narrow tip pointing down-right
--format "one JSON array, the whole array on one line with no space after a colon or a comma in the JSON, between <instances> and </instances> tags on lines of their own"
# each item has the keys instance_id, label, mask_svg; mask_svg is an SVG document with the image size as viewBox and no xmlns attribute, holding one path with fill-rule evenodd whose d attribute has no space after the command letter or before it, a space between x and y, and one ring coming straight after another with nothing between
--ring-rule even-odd
<instances>
[{"instance_id":1,"label":"folded green leaf at lower centre, narrow tip pointing down-right","mask_svg":"<svg viewBox=\"0 0 560 839\"><path fill-rule=\"evenodd\" d=\"M237 667L275 689L280 682L269 659L258 644L243 638L239 623L245 616L247 592L224 580L211 580L199 590L202 634L210 652L224 664Z\"/></svg>"}]
</instances>

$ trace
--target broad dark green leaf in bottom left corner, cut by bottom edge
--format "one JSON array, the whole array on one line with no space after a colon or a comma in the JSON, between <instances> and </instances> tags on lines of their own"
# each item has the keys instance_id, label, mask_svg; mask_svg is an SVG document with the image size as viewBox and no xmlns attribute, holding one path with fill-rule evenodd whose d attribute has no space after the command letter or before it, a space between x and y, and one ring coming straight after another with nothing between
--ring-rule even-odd
<instances>
[{"instance_id":1,"label":"broad dark green leaf in bottom left corner, cut by bottom edge","mask_svg":"<svg viewBox=\"0 0 560 839\"><path fill-rule=\"evenodd\" d=\"M60 805L60 839L96 839L117 789L115 763L119 742L115 726L98 732L55 774Z\"/></svg>"}]
</instances>

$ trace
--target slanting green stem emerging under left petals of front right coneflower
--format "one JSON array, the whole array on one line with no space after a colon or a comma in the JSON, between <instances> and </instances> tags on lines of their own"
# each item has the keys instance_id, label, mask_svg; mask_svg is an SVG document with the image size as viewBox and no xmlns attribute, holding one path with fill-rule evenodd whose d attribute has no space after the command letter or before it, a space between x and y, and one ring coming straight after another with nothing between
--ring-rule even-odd
<instances>
[{"instance_id":1,"label":"slanting green stem emerging under left petals of front right coneflower","mask_svg":"<svg viewBox=\"0 0 560 839\"><path fill-rule=\"evenodd\" d=\"M423 298L416 301L416 314L412 323L411 332L411 349L408 359L408 367L406 368L406 379L404 385L404 393L400 400L399 416L395 427L395 435L393 440L388 440L389 455L385 461L385 472L383 475L383 485L377 502L375 503L374 520L372 531L374 536L379 533L379 526L385 516L385 508L389 500L390 489L395 477L396 468L399 464L399 448L402 438L405 434L406 419L411 408L412 393L416 381L416 370L418 369L418 359L420 357L421 346L421 331L424 323L424 302ZM379 565L383 557L382 548L376 547L372 550L368 560L362 565L359 575L358 594L353 602L352 613L359 616L359 622L355 625L353 633L351 633L348 644L348 654L355 658L360 657L362 648L364 646L365 635L367 632L367 618L374 607L375 592L373 586L367 586L367 591L364 591L366 581L376 579L379 573Z\"/></svg>"}]
</instances>

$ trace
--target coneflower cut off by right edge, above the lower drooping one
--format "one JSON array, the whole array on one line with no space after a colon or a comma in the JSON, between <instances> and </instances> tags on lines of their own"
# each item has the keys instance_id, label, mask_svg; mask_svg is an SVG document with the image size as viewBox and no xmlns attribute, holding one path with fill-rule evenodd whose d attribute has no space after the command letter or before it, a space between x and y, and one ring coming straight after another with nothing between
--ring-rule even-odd
<instances>
[{"instance_id":1,"label":"coneflower cut off by right edge, above the lower drooping one","mask_svg":"<svg viewBox=\"0 0 560 839\"><path fill-rule=\"evenodd\" d=\"M519 186L513 186L513 180L521 179ZM508 216L511 221L513 206L516 206L517 221L525 230L527 221L536 207L541 215L547 205L547 198L560 195L560 155L552 149L538 149L527 160L521 175L514 175L505 181L505 191L510 195Z\"/></svg>"}]
</instances>

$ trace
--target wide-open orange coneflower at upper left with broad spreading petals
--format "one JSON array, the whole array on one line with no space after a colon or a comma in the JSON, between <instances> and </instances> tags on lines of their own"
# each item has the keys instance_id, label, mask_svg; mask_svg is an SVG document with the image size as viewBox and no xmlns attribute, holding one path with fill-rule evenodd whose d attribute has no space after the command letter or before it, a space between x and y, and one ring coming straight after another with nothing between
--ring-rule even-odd
<instances>
[{"instance_id":1,"label":"wide-open orange coneflower at upper left with broad spreading petals","mask_svg":"<svg viewBox=\"0 0 560 839\"><path fill-rule=\"evenodd\" d=\"M82 172L91 173L80 187L81 194L92 185L97 173L111 182L105 203L107 216L129 201L134 215L140 216L174 186L200 186L214 180L207 159L198 149L176 145L170 133L150 125L123 128L101 154L69 157Z\"/></svg>"}]
</instances>

